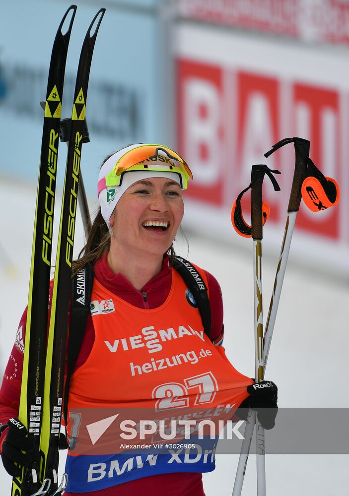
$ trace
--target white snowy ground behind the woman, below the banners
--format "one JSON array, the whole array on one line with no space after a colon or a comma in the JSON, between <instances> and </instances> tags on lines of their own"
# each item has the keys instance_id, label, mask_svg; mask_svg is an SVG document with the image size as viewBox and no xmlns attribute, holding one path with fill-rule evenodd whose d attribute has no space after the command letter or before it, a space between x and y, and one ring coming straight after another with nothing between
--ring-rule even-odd
<instances>
[{"instance_id":1,"label":"white snowy ground behind the woman, below the banners","mask_svg":"<svg viewBox=\"0 0 349 496\"><path fill-rule=\"evenodd\" d=\"M33 188L0 178L1 374L27 300L34 205ZM187 238L189 255L185 243L177 252L208 269L221 284L227 355L236 369L254 376L252 242L246 240L246 251L241 252L190 233ZM81 225L75 239L80 247ZM267 255L264 253L263 259L265 318L277 264ZM279 386L279 406L349 407L345 387L348 289L343 279L307 271L290 260L266 374ZM231 494L237 460L238 455L217 456L216 470L204 476L207 496ZM267 494L346 496L348 463L348 455L267 455ZM242 495L257 494L255 473L255 457L251 455ZM10 494L10 477L2 466L0 487L1 494Z\"/></svg>"}]
</instances>

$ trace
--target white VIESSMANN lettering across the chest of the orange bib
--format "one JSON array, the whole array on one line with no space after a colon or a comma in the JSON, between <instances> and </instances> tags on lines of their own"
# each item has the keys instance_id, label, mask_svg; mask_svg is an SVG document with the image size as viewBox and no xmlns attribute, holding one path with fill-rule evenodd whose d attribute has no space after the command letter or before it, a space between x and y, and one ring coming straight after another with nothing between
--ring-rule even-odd
<instances>
[{"instance_id":1,"label":"white VIESSMANN lettering across the chest of the orange bib","mask_svg":"<svg viewBox=\"0 0 349 496\"><path fill-rule=\"evenodd\" d=\"M148 327L143 327L140 332L141 334L135 336L115 339L112 343L110 341L104 341L104 343L111 353L116 353L118 349L129 351L130 349L135 350L136 348L142 347L146 347L148 353L155 353L162 350L160 341L164 342L171 339L183 338L184 336L197 336L202 341L205 341L204 331L197 331L190 325L188 325L188 329L184 325L180 325L178 326L177 331L175 331L173 327L155 330L154 326L150 325Z\"/></svg>"}]
</instances>

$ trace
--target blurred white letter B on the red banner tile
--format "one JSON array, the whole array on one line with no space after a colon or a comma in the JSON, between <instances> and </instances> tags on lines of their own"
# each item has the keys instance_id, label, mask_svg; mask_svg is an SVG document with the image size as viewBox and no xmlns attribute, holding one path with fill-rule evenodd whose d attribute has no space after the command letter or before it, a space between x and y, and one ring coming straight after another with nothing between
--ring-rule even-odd
<instances>
[{"instance_id":1,"label":"blurred white letter B on the red banner tile","mask_svg":"<svg viewBox=\"0 0 349 496\"><path fill-rule=\"evenodd\" d=\"M186 146L188 163L195 180L212 184L218 179L220 147L218 141L219 97L208 81L191 78L184 86ZM196 174L199 172L200 174Z\"/></svg>"}]
</instances>

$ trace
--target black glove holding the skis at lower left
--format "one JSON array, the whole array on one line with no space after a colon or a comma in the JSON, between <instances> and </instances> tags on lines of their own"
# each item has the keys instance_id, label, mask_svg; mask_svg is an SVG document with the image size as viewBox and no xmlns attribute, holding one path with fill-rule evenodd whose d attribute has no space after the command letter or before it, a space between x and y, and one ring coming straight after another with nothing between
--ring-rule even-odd
<instances>
[{"instance_id":1,"label":"black glove holding the skis at lower left","mask_svg":"<svg viewBox=\"0 0 349 496\"><path fill-rule=\"evenodd\" d=\"M7 427L8 431L1 450L2 463L8 474L12 477L19 477L21 467L29 467L40 463L40 453L34 441L26 437L28 431L18 419L10 419L7 424L1 426L0 432ZM21 467L18 465L21 465Z\"/></svg>"}]
</instances>

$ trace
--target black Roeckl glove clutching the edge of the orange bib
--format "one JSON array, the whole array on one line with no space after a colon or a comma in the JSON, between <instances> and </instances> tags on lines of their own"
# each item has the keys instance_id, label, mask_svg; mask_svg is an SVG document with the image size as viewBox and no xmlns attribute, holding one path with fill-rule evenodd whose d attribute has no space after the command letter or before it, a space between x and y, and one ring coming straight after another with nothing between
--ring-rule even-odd
<instances>
[{"instance_id":1,"label":"black Roeckl glove clutching the edge of the orange bib","mask_svg":"<svg viewBox=\"0 0 349 496\"><path fill-rule=\"evenodd\" d=\"M264 429L273 429L278 413L278 388L276 384L271 380L262 380L259 384L247 386L247 392L249 396L236 410L236 417L246 420L250 408L257 412L257 418Z\"/></svg>"}]
</instances>

